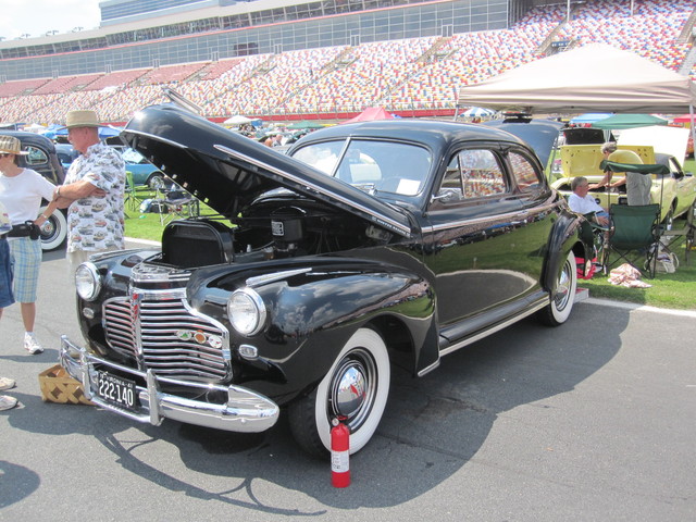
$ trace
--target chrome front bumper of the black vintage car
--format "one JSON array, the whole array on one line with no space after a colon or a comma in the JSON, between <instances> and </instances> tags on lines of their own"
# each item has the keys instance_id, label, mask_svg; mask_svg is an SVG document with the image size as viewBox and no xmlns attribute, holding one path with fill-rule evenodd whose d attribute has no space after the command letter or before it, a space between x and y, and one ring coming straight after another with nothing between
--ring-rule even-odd
<instances>
[{"instance_id":1,"label":"chrome front bumper of the black vintage car","mask_svg":"<svg viewBox=\"0 0 696 522\"><path fill-rule=\"evenodd\" d=\"M173 419L187 424L215 427L228 432L257 433L269 430L278 419L279 408L269 398L239 386L220 386L206 383L182 381L178 378L158 377L148 370L141 372L108 361L89 353L72 343L65 335L61 337L61 365L74 378L83 384L85 396L100 406L120 415L138 422L160 425L164 419ZM134 378L145 380L146 387L136 386L140 401L137 412L128 411L105 402L97 396L97 370L109 369L125 372ZM206 400L189 399L162 393L161 384L185 387L204 397L209 391L227 394L226 403L213 403Z\"/></svg>"}]
</instances>

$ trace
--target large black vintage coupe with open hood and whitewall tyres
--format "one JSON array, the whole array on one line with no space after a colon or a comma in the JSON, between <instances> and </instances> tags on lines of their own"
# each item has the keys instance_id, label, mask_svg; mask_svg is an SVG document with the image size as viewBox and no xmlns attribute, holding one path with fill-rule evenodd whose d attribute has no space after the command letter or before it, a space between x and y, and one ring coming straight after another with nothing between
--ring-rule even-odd
<instances>
[{"instance_id":1,"label":"large black vintage coupe with open hood and whitewall tyres","mask_svg":"<svg viewBox=\"0 0 696 522\"><path fill-rule=\"evenodd\" d=\"M122 136L221 214L77 271L87 345L63 337L62 364L133 420L261 432L287 407L306 450L325 453L341 418L355 452L380 423L391 364L423 375L573 307L573 250L589 248L580 217L505 132L338 125L285 156L163 104Z\"/></svg>"}]
</instances>

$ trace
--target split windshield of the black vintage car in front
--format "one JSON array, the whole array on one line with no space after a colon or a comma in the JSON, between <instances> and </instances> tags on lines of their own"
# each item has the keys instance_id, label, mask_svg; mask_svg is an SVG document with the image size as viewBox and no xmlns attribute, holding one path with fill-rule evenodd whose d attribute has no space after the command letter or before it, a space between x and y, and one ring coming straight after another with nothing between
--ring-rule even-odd
<instances>
[{"instance_id":1,"label":"split windshield of the black vintage car in front","mask_svg":"<svg viewBox=\"0 0 696 522\"><path fill-rule=\"evenodd\" d=\"M293 157L363 190L401 196L423 189L432 163L423 147L368 139L310 144Z\"/></svg>"}]
</instances>

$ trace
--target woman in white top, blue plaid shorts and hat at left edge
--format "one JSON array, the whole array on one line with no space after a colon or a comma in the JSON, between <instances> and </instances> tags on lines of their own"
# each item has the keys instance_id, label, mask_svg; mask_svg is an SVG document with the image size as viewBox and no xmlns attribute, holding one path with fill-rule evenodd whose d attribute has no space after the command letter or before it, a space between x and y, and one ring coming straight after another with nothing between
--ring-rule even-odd
<instances>
[{"instance_id":1,"label":"woman in white top, blue plaid shorts and hat at left edge","mask_svg":"<svg viewBox=\"0 0 696 522\"><path fill-rule=\"evenodd\" d=\"M26 156L14 136L0 136L0 202L4 204L12 231L8 233L13 272L14 299L20 302L24 323L24 348L40 353L44 348L34 334L36 290L41 265L39 227L53 213L55 187L36 171L17 165L17 157ZM41 199L51 201L38 215Z\"/></svg>"}]
</instances>

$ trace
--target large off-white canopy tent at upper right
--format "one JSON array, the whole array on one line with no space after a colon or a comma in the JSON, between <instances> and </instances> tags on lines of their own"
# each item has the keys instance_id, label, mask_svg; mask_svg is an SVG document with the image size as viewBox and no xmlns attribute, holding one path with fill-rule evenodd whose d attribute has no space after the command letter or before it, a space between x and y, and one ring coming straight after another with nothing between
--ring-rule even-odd
<instances>
[{"instance_id":1,"label":"large off-white canopy tent at upper right","mask_svg":"<svg viewBox=\"0 0 696 522\"><path fill-rule=\"evenodd\" d=\"M693 113L696 85L634 52L589 44L459 91L458 107L526 113Z\"/></svg>"}]
</instances>

